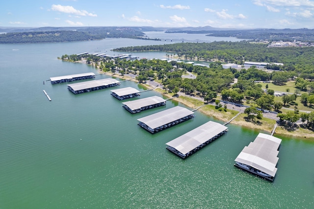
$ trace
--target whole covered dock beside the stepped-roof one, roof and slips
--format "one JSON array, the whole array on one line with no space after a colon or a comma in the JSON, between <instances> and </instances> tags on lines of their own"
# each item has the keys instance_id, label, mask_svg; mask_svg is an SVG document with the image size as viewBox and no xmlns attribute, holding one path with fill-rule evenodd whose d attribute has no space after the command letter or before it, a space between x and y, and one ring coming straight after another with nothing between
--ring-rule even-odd
<instances>
[{"instance_id":1,"label":"whole covered dock beside the stepped-roof one, roof and slips","mask_svg":"<svg viewBox=\"0 0 314 209\"><path fill-rule=\"evenodd\" d=\"M166 143L166 148L181 158L186 158L197 152L228 131L228 127L209 121L182 136Z\"/></svg>"}]
</instances>

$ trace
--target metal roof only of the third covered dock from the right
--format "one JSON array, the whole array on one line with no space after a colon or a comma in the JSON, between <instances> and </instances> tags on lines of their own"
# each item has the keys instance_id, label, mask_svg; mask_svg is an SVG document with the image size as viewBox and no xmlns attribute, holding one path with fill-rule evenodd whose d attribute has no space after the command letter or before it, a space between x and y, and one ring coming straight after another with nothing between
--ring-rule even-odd
<instances>
[{"instance_id":1,"label":"metal roof only of the third covered dock from the right","mask_svg":"<svg viewBox=\"0 0 314 209\"><path fill-rule=\"evenodd\" d=\"M194 112L180 106L176 106L159 113L155 113L146 117L137 119L138 121L145 123L147 126L155 129L159 126L165 125L167 123L179 120L185 116L190 116Z\"/></svg>"}]
</instances>

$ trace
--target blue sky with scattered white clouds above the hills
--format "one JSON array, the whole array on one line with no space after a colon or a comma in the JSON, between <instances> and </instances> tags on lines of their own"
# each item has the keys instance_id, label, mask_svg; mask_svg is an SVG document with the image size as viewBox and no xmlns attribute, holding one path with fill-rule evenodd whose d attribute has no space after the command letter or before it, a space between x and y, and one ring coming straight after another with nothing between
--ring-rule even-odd
<instances>
[{"instance_id":1,"label":"blue sky with scattered white clouds above the hills","mask_svg":"<svg viewBox=\"0 0 314 209\"><path fill-rule=\"evenodd\" d=\"M0 26L314 28L314 0L4 0Z\"/></svg>"}]
</instances>

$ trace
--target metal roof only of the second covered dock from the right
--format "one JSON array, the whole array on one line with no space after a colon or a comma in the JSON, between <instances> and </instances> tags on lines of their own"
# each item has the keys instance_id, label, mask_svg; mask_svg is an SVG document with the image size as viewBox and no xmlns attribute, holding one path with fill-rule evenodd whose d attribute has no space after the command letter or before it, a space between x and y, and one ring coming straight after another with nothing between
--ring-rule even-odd
<instances>
[{"instance_id":1,"label":"metal roof only of the second covered dock from the right","mask_svg":"<svg viewBox=\"0 0 314 209\"><path fill-rule=\"evenodd\" d=\"M195 149L199 145L205 143L209 139L217 136L227 129L228 127L221 125L220 123L209 121L193 129L192 131L189 131L182 136L169 141L166 143L166 145L172 146L185 155L189 151Z\"/></svg>"}]
</instances>

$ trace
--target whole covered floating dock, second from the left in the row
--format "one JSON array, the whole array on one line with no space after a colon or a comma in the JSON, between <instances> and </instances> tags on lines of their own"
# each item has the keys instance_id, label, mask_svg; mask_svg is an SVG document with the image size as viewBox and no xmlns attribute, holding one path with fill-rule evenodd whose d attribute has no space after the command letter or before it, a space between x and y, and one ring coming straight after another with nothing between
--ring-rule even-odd
<instances>
[{"instance_id":1,"label":"whole covered floating dock, second from the left in the row","mask_svg":"<svg viewBox=\"0 0 314 209\"><path fill-rule=\"evenodd\" d=\"M77 94L91 92L101 89L106 89L109 87L120 85L120 82L113 78L105 78L101 80L85 81L75 84L69 84L68 89Z\"/></svg>"}]
</instances>

